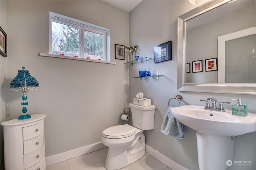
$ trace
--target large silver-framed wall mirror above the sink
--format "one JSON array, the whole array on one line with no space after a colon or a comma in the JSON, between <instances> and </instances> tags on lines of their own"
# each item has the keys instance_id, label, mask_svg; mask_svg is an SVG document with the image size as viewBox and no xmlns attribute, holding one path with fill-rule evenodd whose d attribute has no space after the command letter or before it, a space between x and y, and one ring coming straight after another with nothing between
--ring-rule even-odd
<instances>
[{"instance_id":1,"label":"large silver-framed wall mirror above the sink","mask_svg":"<svg viewBox=\"0 0 256 170\"><path fill-rule=\"evenodd\" d=\"M249 8L250 10L248 10ZM251 27L256 28L255 9L256 1L253 0L214 0L206 2L178 17L177 87L179 91L256 95L255 82L241 82L236 78L228 83L218 80L218 74L222 74L223 70L225 71L225 62L224 66L222 62L225 55L218 53L219 47L217 43L218 37L222 35L228 35ZM230 15L232 13L233 15ZM255 42L256 39L254 39L253 44L254 51L249 57L250 61L252 59L253 62L256 61ZM212 67L212 65L211 67L206 67L208 61L216 63L217 67ZM187 63L190 63L191 66L190 73L187 73ZM195 66L195 63L201 64L199 65L199 71L193 70L193 64ZM255 72L255 69L253 71ZM248 72L248 70L245 70L245 72ZM251 74L255 77L255 73ZM231 76L227 75L226 77L230 78Z\"/></svg>"}]
</instances>

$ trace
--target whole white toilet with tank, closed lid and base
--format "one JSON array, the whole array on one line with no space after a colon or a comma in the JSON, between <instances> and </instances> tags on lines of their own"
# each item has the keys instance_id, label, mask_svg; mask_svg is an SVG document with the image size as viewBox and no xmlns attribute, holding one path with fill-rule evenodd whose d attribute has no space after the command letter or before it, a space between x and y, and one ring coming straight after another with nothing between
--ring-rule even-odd
<instances>
[{"instance_id":1,"label":"whole white toilet with tank, closed lid and base","mask_svg":"<svg viewBox=\"0 0 256 170\"><path fill-rule=\"evenodd\" d=\"M143 130L154 129L156 106L137 106L130 103L132 124L109 127L102 132L102 143L108 147L105 168L116 170L139 160L145 154Z\"/></svg>"}]
</instances>

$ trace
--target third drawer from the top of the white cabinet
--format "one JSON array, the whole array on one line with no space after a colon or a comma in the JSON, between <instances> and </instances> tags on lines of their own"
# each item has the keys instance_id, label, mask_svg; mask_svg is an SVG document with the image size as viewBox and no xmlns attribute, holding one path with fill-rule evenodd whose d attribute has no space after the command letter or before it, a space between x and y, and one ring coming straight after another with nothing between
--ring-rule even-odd
<instances>
[{"instance_id":1,"label":"third drawer from the top of the white cabinet","mask_svg":"<svg viewBox=\"0 0 256 170\"><path fill-rule=\"evenodd\" d=\"M33 166L34 164L38 163L42 158L44 158L44 146L42 146L35 152L24 156L24 168L26 169L30 166Z\"/></svg>"}]
</instances>

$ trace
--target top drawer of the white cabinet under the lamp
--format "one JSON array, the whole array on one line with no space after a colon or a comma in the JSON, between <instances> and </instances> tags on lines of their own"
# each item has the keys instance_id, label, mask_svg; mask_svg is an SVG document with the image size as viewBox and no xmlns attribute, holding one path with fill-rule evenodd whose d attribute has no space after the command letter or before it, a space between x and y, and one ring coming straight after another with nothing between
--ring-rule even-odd
<instances>
[{"instance_id":1,"label":"top drawer of the white cabinet under the lamp","mask_svg":"<svg viewBox=\"0 0 256 170\"><path fill-rule=\"evenodd\" d=\"M23 141L32 139L41 135L44 132L44 122L37 123L32 126L23 127Z\"/></svg>"}]
</instances>

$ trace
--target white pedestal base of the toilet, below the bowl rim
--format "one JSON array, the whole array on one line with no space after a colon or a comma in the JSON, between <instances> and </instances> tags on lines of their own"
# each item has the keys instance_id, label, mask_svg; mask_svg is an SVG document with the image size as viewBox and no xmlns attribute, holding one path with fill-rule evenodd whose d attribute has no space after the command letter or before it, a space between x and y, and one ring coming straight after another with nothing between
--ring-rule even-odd
<instances>
[{"instance_id":1,"label":"white pedestal base of the toilet, below the bowl rim","mask_svg":"<svg viewBox=\"0 0 256 170\"><path fill-rule=\"evenodd\" d=\"M145 153L145 135L141 132L136 134L134 141L128 146L109 147L104 167L107 170L124 168L142 158Z\"/></svg>"}]
</instances>

